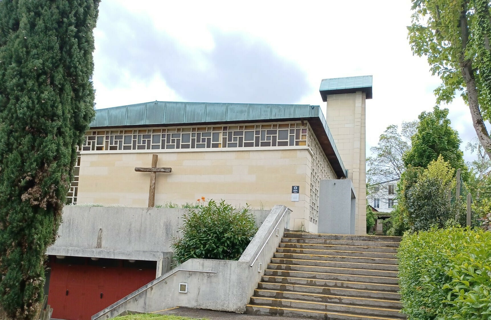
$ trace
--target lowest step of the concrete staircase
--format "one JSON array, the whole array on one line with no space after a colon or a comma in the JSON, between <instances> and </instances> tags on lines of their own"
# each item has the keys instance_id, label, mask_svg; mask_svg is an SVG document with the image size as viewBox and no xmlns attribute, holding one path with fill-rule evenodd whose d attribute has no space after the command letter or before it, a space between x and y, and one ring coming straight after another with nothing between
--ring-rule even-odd
<instances>
[{"instance_id":1,"label":"lowest step of the concrete staircase","mask_svg":"<svg viewBox=\"0 0 491 320\"><path fill-rule=\"evenodd\" d=\"M346 313L338 312L323 312L315 310L300 310L294 308L279 308L272 306L260 306L248 304L246 305L246 312L248 314L255 315L271 315L279 317L299 317L310 319L328 319L328 320L396 320L396 318L387 317L370 317L360 315L350 315ZM401 319L401 318L397 318Z\"/></svg>"}]
</instances>

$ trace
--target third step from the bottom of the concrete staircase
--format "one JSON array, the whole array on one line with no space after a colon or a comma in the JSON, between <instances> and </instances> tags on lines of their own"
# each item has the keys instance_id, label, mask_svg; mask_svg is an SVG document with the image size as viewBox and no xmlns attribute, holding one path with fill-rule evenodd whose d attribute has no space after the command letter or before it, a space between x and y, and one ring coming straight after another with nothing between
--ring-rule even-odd
<instances>
[{"instance_id":1,"label":"third step from the bottom of the concrete staircase","mask_svg":"<svg viewBox=\"0 0 491 320\"><path fill-rule=\"evenodd\" d=\"M400 310L402 305L400 301L385 300L385 299L370 299L353 296L343 296L334 294L323 293L306 293L295 291L277 291L277 290L265 290L255 289L254 296L261 298L274 298L274 299L291 299L299 301L313 301L323 303L336 303L350 306L363 306L363 307L377 307L387 309Z\"/></svg>"}]
</instances>

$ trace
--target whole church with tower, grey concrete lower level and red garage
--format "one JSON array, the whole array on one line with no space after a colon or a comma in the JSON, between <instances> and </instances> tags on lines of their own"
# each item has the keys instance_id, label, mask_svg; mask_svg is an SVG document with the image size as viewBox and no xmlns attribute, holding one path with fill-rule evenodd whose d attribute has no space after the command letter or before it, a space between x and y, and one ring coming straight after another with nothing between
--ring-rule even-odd
<instances>
[{"instance_id":1,"label":"whole church with tower, grey concrete lower level and red garage","mask_svg":"<svg viewBox=\"0 0 491 320\"><path fill-rule=\"evenodd\" d=\"M154 101L97 109L79 148L71 205L48 249L53 317L88 320L170 270L185 210L148 208L222 199L256 210L260 225L282 205L291 231L366 234L372 76L322 80L320 94L326 116L316 105Z\"/></svg>"}]
</instances>

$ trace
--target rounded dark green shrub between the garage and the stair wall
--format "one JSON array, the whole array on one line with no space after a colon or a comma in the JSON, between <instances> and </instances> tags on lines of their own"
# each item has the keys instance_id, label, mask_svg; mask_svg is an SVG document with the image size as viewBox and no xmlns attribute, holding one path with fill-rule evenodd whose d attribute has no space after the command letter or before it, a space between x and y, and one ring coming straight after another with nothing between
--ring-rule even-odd
<instances>
[{"instance_id":1,"label":"rounded dark green shrub between the garage and the stair wall","mask_svg":"<svg viewBox=\"0 0 491 320\"><path fill-rule=\"evenodd\" d=\"M179 264L191 258L238 260L257 232L248 207L237 210L223 200L188 209L183 219L182 238L172 244Z\"/></svg>"}]
</instances>

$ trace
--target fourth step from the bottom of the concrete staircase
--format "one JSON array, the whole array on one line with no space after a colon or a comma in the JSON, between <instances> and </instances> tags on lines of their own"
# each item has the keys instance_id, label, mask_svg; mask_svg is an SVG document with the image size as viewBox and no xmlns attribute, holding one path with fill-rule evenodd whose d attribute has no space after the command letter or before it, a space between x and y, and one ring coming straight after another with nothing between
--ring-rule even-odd
<instances>
[{"instance_id":1,"label":"fourth step from the bottom of the concrete staircase","mask_svg":"<svg viewBox=\"0 0 491 320\"><path fill-rule=\"evenodd\" d=\"M297 293L319 293L319 294L327 294L327 295L340 295L346 297L370 298L370 299L382 299L382 300L394 300L394 301L398 301L401 298L401 295L395 292L293 285L293 284L281 284L281 283L269 283L269 282L259 282L258 289L283 291L283 292L297 292Z\"/></svg>"}]
</instances>

